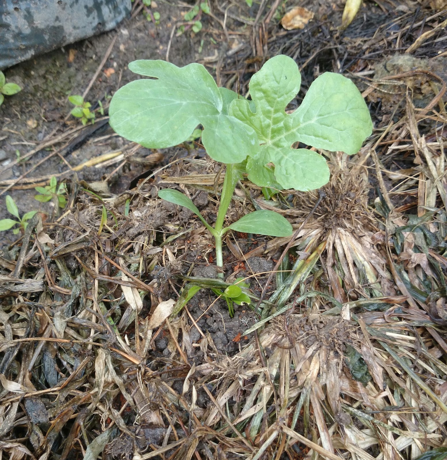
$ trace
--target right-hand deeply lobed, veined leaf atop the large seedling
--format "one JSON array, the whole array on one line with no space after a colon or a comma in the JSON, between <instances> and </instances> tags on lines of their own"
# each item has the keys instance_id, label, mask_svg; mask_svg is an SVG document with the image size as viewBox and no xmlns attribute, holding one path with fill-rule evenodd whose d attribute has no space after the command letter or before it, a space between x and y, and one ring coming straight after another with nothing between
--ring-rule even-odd
<instances>
[{"instance_id":1,"label":"right-hand deeply lobed, veined leaf atop the large seedling","mask_svg":"<svg viewBox=\"0 0 447 460\"><path fill-rule=\"evenodd\" d=\"M312 190L329 180L325 159L305 144L327 150L357 152L371 134L367 106L355 85L342 75L323 74L309 88L303 104L287 115L287 104L299 91L301 76L287 56L267 61L252 76L250 94L255 110L244 100L231 103L229 113L251 126L261 143L258 155L248 158L248 178L260 186ZM274 168L270 166L274 165Z\"/></svg>"}]
</instances>

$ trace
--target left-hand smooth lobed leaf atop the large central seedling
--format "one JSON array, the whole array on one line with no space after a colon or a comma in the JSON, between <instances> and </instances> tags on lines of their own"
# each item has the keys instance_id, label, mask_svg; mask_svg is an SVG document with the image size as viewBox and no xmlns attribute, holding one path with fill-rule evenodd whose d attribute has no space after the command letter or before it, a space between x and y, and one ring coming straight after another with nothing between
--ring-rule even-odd
<instances>
[{"instance_id":1,"label":"left-hand smooth lobed leaf atop the large central seedling","mask_svg":"<svg viewBox=\"0 0 447 460\"><path fill-rule=\"evenodd\" d=\"M185 141L201 124L202 143L214 160L239 163L256 155L252 127L228 115L232 98L219 89L201 64L179 68L165 61L139 60L129 69L156 80L137 80L120 88L110 102L110 126L121 136L149 148Z\"/></svg>"}]
</instances>

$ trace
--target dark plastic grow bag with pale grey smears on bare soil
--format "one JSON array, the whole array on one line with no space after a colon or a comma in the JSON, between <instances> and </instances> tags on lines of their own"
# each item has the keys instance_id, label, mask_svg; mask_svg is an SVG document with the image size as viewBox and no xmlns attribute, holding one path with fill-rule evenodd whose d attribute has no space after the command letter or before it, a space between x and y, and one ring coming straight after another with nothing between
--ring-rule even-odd
<instances>
[{"instance_id":1,"label":"dark plastic grow bag with pale grey smears on bare soil","mask_svg":"<svg viewBox=\"0 0 447 460\"><path fill-rule=\"evenodd\" d=\"M131 0L0 0L0 69L115 28Z\"/></svg>"}]
</instances>

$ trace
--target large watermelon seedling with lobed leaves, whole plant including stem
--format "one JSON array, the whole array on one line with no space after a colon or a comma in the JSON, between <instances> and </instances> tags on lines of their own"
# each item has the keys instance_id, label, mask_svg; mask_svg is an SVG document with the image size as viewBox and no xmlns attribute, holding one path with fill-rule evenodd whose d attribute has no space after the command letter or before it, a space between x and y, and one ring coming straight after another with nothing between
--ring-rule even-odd
<instances>
[{"instance_id":1,"label":"large watermelon seedling with lobed leaves, whole plant including stem","mask_svg":"<svg viewBox=\"0 0 447 460\"><path fill-rule=\"evenodd\" d=\"M219 88L201 64L178 68L164 61L140 60L130 63L129 69L152 79L132 81L115 93L109 115L118 134L144 147L161 149L181 144L202 125L206 152L226 164L214 227L179 191L159 191L161 198L187 207L201 219L214 236L216 263L221 267L222 236L230 229L269 236L292 234L288 221L273 211L254 211L224 227L243 173L260 187L317 189L329 180L326 160L313 150L292 149L292 145L299 141L353 155L372 132L360 92L339 74L320 75L298 109L286 114L301 83L297 64L287 56L271 58L252 76L250 101Z\"/></svg>"}]
</instances>

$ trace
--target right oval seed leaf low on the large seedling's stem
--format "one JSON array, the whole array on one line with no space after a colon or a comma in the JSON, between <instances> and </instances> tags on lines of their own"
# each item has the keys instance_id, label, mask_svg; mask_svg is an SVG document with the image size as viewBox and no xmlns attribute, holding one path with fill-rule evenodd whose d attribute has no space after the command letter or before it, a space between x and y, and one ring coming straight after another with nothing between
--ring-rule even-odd
<instances>
[{"instance_id":1,"label":"right oval seed leaf low on the large seedling's stem","mask_svg":"<svg viewBox=\"0 0 447 460\"><path fill-rule=\"evenodd\" d=\"M231 230L257 235L290 236L293 229L289 221L275 211L254 211L229 226Z\"/></svg>"}]
</instances>

